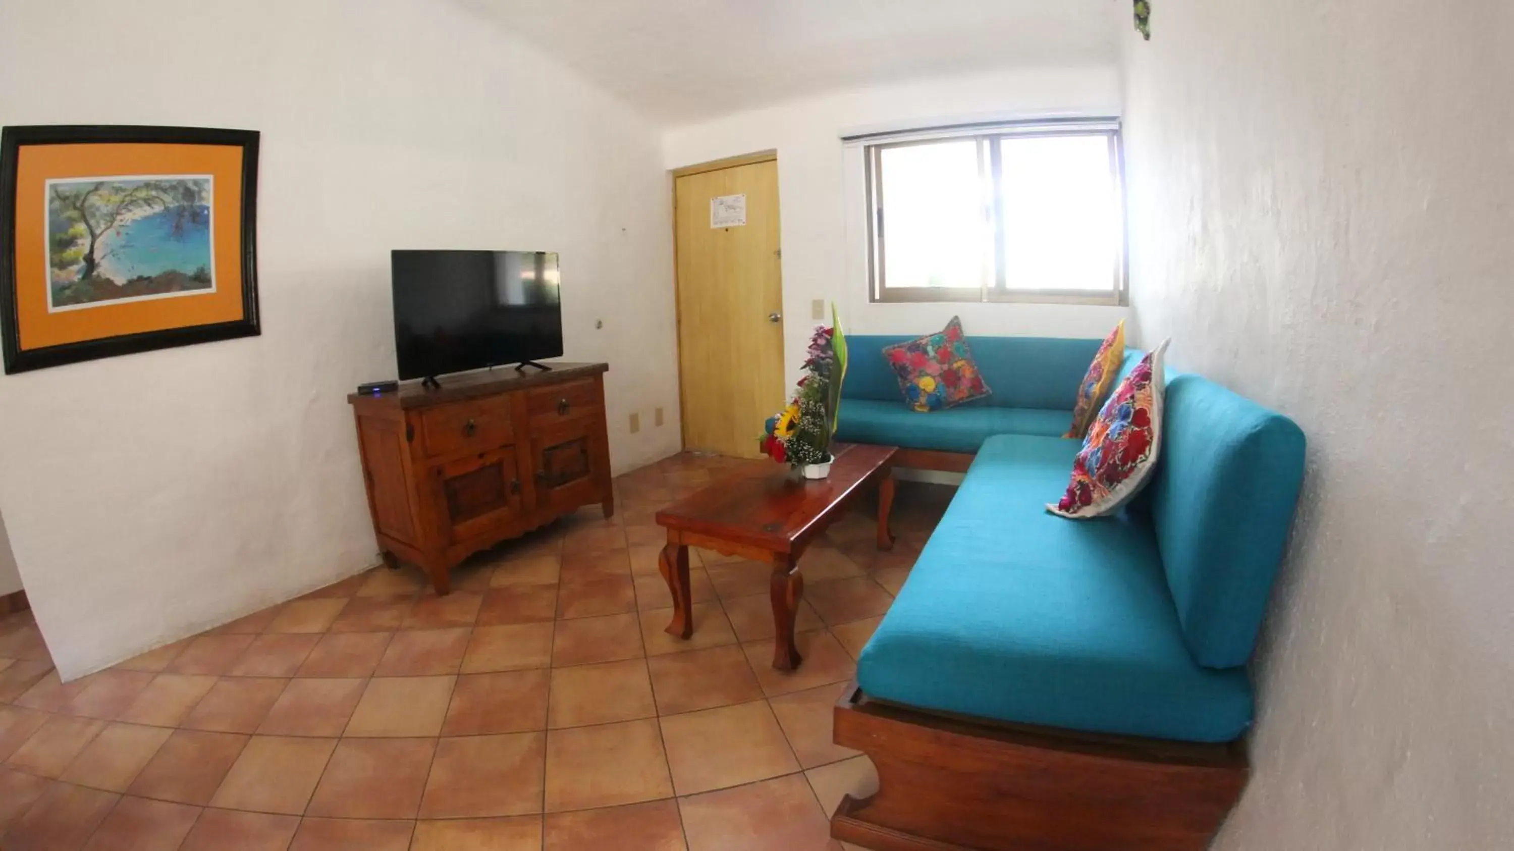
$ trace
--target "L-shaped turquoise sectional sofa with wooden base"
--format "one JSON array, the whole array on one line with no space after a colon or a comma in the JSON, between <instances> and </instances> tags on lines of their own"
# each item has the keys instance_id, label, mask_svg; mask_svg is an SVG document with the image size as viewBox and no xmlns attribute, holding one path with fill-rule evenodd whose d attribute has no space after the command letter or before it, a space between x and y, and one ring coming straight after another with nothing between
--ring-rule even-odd
<instances>
[{"instance_id":1,"label":"L-shaped turquoise sectional sofa with wooden base","mask_svg":"<svg viewBox=\"0 0 1514 851\"><path fill-rule=\"evenodd\" d=\"M1079 448L1060 435L1099 341L969 338L993 395L916 413L878 354L901 339L848 338L837 436L904 447L901 463L937 453L972 457L861 651L858 689L837 706L837 743L868 751L881 784L866 806L843 803L836 836L881 842L868 831L883 825L964 848L1113 840L1089 834L1092 819L1120 825L1119 842L1105 846L1145 848L1137 837L1146 831L1154 848L1202 848L1245 781L1240 736L1252 721L1245 665L1297 500L1302 432L1210 380L1169 373L1161 457L1148 488L1116 516L1069 521L1045 504L1061 495ZM1125 368L1137 359L1129 351ZM901 718L905 728L896 727ZM910 724L933 728L933 747L945 747L943 730L969 740L942 751L914 747L905 757L890 748L908 740ZM986 725L981 739L964 724ZM1036 756L1011 748L989 795L981 760L1008 747L1005 725L1031 736ZM1099 766L1102 781L1078 783L1090 771L1090 748L1104 747L1125 748L1123 756ZM969 751L980 751L977 768L948 780L955 756ZM1158 751L1166 756L1151 757ZM1058 759L1048 763L1048 753ZM1036 783L1017 784L1014 766ZM1079 790L1125 775L1139 778L1139 807L1125 809L1128 801L1107 790ZM1040 800L1058 778L1073 792L1055 804ZM995 800L1007 827L993 833L993 818L948 812L949 804L921 815L930 809L922 801L942 789ZM1154 790L1170 796L1152 801ZM1052 824L1048 806L1079 815Z\"/></svg>"}]
</instances>

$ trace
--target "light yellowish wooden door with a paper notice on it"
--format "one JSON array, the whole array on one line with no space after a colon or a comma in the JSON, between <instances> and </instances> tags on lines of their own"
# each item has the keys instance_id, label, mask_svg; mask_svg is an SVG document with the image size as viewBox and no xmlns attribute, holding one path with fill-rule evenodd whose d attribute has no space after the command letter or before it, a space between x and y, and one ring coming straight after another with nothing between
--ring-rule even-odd
<instances>
[{"instance_id":1,"label":"light yellowish wooden door with a paper notice on it","mask_svg":"<svg viewBox=\"0 0 1514 851\"><path fill-rule=\"evenodd\" d=\"M712 201L733 195L745 224L712 227ZM784 403L778 161L675 173L674 204L683 445L759 457Z\"/></svg>"}]
</instances>

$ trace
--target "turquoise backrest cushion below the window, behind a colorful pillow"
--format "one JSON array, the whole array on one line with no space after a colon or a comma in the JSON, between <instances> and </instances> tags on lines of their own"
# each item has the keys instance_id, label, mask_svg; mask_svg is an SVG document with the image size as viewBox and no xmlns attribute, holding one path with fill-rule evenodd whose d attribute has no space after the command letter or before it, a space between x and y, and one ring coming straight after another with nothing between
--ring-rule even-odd
<instances>
[{"instance_id":1,"label":"turquoise backrest cushion below the window, behind a colorful pillow","mask_svg":"<svg viewBox=\"0 0 1514 851\"><path fill-rule=\"evenodd\" d=\"M871 398L904 404L899 380L883 357L884 347L924 335L846 335L846 382L842 398ZM1042 407L1072 410L1078 385L1089 371L1101 339L1039 336L967 336L972 359L992 395L966 406ZM1128 359L1126 359L1128 360Z\"/></svg>"}]
</instances>

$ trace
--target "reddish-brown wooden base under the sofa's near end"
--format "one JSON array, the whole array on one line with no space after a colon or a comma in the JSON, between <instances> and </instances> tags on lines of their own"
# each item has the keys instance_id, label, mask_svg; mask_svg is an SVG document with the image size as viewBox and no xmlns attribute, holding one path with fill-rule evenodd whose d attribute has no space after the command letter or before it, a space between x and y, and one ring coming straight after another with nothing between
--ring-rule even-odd
<instances>
[{"instance_id":1,"label":"reddish-brown wooden base under the sofa's near end","mask_svg":"<svg viewBox=\"0 0 1514 851\"><path fill-rule=\"evenodd\" d=\"M848 795L831 836L875 851L1202 851L1246 784L1240 740L1188 743L836 704L837 745L878 792Z\"/></svg>"}]
</instances>

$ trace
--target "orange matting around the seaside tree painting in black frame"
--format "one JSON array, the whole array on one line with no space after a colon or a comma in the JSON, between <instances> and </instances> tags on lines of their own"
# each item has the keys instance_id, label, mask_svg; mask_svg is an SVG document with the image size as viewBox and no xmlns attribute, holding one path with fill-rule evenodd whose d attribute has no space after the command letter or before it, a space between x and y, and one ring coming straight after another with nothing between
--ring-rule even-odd
<instances>
[{"instance_id":1,"label":"orange matting around the seaside tree painting in black frame","mask_svg":"<svg viewBox=\"0 0 1514 851\"><path fill-rule=\"evenodd\" d=\"M235 145L23 145L17 157L15 307L23 351L242 318L242 148ZM48 312L47 180L212 174L215 292Z\"/></svg>"}]
</instances>

